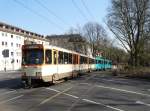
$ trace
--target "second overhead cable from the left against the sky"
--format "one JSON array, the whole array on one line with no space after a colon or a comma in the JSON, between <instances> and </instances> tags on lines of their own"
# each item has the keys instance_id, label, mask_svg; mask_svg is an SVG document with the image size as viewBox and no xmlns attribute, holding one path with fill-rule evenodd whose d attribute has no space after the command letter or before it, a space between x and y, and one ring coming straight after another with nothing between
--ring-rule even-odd
<instances>
[{"instance_id":1,"label":"second overhead cable from the left against the sky","mask_svg":"<svg viewBox=\"0 0 150 111\"><path fill-rule=\"evenodd\" d=\"M39 0L34 0L34 1L36 3L38 3L41 7L46 9L51 15L55 16L59 21L61 21L65 25L68 25L68 23L66 21L64 21L61 17L57 16L53 11L51 11L49 8L47 8L42 2L40 2Z\"/></svg>"}]
</instances>

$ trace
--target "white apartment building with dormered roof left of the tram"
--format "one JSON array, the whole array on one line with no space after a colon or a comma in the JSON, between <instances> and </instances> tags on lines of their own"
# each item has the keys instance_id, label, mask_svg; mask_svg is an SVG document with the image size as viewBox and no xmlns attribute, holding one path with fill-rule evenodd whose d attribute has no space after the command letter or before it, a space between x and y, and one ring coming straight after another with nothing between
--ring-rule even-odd
<instances>
[{"instance_id":1,"label":"white apartment building with dormered roof left of the tram","mask_svg":"<svg viewBox=\"0 0 150 111\"><path fill-rule=\"evenodd\" d=\"M19 70L24 44L49 44L43 35L0 22L0 71Z\"/></svg>"}]
</instances>

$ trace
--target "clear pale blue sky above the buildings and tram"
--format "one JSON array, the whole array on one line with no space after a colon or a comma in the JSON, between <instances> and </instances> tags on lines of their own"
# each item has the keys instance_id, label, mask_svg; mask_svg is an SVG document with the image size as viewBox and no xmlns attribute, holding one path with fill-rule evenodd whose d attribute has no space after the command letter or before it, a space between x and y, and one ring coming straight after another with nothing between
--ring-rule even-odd
<instances>
[{"instance_id":1,"label":"clear pale blue sky above the buildings and tram","mask_svg":"<svg viewBox=\"0 0 150 111\"><path fill-rule=\"evenodd\" d=\"M104 25L107 8L110 6L110 0L73 0L82 10L81 14L72 0L38 1L48 9L43 8L36 0L0 0L0 21L42 35L63 34L70 27L83 26L89 21ZM86 11L82 1L92 16Z\"/></svg>"}]
</instances>

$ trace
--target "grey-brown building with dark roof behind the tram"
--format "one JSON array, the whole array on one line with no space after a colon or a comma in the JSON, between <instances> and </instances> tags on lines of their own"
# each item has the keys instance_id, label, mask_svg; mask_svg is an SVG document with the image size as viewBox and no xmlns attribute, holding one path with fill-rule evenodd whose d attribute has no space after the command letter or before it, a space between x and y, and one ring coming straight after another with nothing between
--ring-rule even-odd
<instances>
[{"instance_id":1,"label":"grey-brown building with dark roof behind the tram","mask_svg":"<svg viewBox=\"0 0 150 111\"><path fill-rule=\"evenodd\" d=\"M92 56L89 43L80 34L50 35L46 36L46 39L51 45Z\"/></svg>"}]
</instances>

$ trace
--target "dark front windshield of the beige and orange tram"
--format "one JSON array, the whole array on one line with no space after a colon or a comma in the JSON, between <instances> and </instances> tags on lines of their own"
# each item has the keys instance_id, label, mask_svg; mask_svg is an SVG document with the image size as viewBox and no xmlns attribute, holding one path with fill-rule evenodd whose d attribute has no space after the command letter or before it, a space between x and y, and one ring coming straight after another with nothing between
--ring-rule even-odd
<instances>
[{"instance_id":1,"label":"dark front windshield of the beige and orange tram","mask_svg":"<svg viewBox=\"0 0 150 111\"><path fill-rule=\"evenodd\" d=\"M43 50L39 49L30 49L30 50L23 50L23 58L22 64L23 65L39 65L43 63Z\"/></svg>"}]
</instances>

